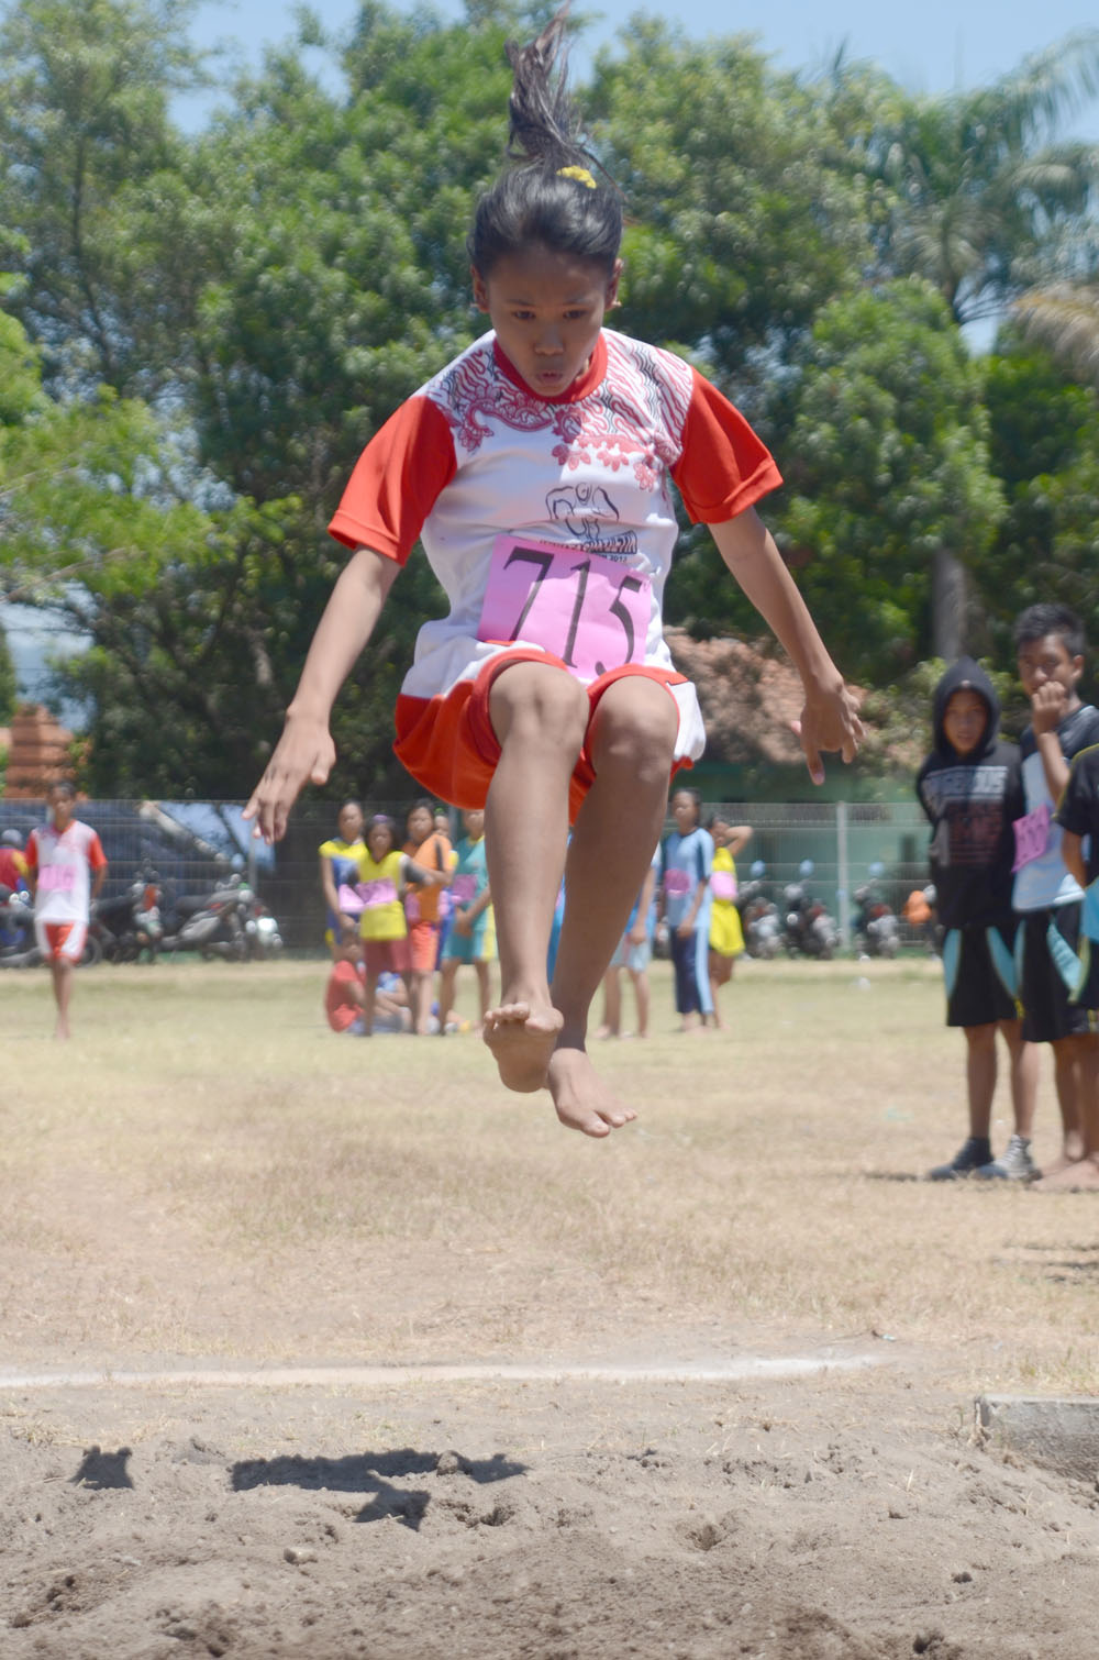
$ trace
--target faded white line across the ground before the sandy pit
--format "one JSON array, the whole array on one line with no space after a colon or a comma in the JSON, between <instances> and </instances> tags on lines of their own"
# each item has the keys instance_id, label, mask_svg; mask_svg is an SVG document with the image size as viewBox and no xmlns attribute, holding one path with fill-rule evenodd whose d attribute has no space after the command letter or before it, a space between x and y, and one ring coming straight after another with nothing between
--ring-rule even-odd
<instances>
[{"instance_id":1,"label":"faded white line across the ground before the sandy pit","mask_svg":"<svg viewBox=\"0 0 1099 1660\"><path fill-rule=\"evenodd\" d=\"M178 1371L0 1371L0 1389L287 1389L300 1386L383 1388L410 1383L747 1383L762 1378L812 1378L862 1371L882 1355L745 1355L724 1365L679 1366L247 1366Z\"/></svg>"}]
</instances>

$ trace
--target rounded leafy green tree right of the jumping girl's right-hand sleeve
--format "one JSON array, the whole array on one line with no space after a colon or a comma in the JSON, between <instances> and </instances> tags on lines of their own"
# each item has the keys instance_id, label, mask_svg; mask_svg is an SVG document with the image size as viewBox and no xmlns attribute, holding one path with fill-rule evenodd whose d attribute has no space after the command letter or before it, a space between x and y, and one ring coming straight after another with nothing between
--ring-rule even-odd
<instances>
[{"instance_id":1,"label":"rounded leafy green tree right of the jumping girl's right-hand sleeve","mask_svg":"<svg viewBox=\"0 0 1099 1660\"><path fill-rule=\"evenodd\" d=\"M1003 498L979 367L928 284L903 279L822 310L790 453L785 544L848 671L891 681L973 644L965 613L961 637L935 614L941 554L978 586Z\"/></svg>"}]
</instances>

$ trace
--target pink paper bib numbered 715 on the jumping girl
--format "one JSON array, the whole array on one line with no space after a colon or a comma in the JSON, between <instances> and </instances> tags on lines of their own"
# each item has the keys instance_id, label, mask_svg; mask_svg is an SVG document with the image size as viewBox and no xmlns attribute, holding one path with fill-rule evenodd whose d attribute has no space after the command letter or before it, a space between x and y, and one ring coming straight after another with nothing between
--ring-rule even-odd
<instances>
[{"instance_id":1,"label":"pink paper bib numbered 715 on the jumping girl","mask_svg":"<svg viewBox=\"0 0 1099 1660\"><path fill-rule=\"evenodd\" d=\"M593 681L644 662L652 584L584 548L496 536L476 637L533 641Z\"/></svg>"}]
</instances>

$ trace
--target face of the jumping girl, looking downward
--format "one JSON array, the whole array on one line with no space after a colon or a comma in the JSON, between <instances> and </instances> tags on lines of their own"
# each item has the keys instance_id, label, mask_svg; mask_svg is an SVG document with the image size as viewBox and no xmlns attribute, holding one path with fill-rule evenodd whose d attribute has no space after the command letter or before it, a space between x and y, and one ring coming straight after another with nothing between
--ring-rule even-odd
<instances>
[{"instance_id":1,"label":"face of the jumping girl, looking downward","mask_svg":"<svg viewBox=\"0 0 1099 1660\"><path fill-rule=\"evenodd\" d=\"M604 312L618 297L621 259L608 277L598 259L530 247L473 271L476 309L531 392L559 397L588 369Z\"/></svg>"}]
</instances>

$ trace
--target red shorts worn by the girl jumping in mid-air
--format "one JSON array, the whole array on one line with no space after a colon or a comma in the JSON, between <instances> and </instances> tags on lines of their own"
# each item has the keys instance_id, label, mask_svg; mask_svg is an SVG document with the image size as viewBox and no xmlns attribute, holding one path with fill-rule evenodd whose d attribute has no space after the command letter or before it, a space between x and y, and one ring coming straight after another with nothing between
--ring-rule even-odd
<instances>
[{"instance_id":1,"label":"red shorts worn by the girl jumping in mid-air","mask_svg":"<svg viewBox=\"0 0 1099 1660\"><path fill-rule=\"evenodd\" d=\"M452 807L485 805L488 785L500 760L500 740L488 715L488 697L496 676L513 662L548 662L563 669L564 674L573 672L551 651L516 646L513 651L501 651L490 657L476 679L458 681L445 697L405 697L402 694L397 699L393 754L417 784L430 795L450 802ZM629 674L642 674L667 687L686 684L686 676L676 674L674 669L651 669L641 662L628 662L621 669L611 669L609 674L601 674L588 687L588 732L591 732L591 719L606 689ZM672 765L672 777L681 767L689 765L691 762L686 759L677 760ZM584 740L569 785L571 823L576 822L594 777Z\"/></svg>"}]
</instances>

